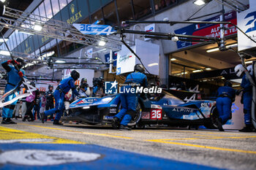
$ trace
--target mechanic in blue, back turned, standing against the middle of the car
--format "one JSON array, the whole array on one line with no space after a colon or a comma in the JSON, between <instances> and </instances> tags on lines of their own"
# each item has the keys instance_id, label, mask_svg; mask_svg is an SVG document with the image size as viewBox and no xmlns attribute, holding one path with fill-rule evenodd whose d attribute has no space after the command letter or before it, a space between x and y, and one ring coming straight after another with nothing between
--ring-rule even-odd
<instances>
[{"instance_id":1,"label":"mechanic in blue, back turned, standing against the middle of the car","mask_svg":"<svg viewBox=\"0 0 256 170\"><path fill-rule=\"evenodd\" d=\"M134 72L128 74L124 84L136 83L146 88L148 86L147 77L145 74L145 68L142 64L136 64ZM125 88L132 88L131 85L125 86ZM120 130L131 130L128 127L128 123L132 120L132 117L136 115L136 107L138 105L137 93L121 93L121 110L117 115L113 117L113 128L118 128L120 123Z\"/></svg>"}]
</instances>

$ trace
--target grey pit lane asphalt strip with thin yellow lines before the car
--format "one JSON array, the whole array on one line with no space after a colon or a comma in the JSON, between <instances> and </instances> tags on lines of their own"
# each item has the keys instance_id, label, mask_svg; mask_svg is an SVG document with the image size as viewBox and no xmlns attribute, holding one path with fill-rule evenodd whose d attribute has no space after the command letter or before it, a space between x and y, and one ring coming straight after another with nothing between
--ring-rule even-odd
<instances>
[{"instance_id":1,"label":"grey pit lane asphalt strip with thin yellow lines before the car","mask_svg":"<svg viewBox=\"0 0 256 170\"><path fill-rule=\"evenodd\" d=\"M255 132L166 127L118 131L109 126L16 122L17 125L1 126L220 169L256 169Z\"/></svg>"}]
</instances>

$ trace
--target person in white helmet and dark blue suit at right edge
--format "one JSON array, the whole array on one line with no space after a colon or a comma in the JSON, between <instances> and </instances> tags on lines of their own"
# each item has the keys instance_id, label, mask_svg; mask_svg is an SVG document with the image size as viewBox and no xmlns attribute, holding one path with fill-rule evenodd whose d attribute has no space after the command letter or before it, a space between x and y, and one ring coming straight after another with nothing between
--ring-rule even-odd
<instances>
[{"instance_id":1,"label":"person in white helmet and dark blue suit at right edge","mask_svg":"<svg viewBox=\"0 0 256 170\"><path fill-rule=\"evenodd\" d=\"M247 66L247 70L249 74L252 75L252 65ZM246 74L244 74L241 82L241 87L243 90L243 103L244 103L244 124L246 125L244 128L240 129L241 132L252 132L254 131L252 126L252 84L249 82Z\"/></svg>"}]
</instances>

